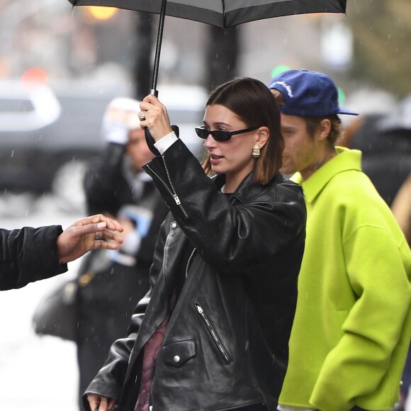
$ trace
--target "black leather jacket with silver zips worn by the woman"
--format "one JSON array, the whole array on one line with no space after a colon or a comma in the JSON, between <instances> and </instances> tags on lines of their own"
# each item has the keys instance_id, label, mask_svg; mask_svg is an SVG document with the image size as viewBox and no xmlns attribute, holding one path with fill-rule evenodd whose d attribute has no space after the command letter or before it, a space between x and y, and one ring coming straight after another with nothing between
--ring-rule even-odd
<instances>
[{"instance_id":1,"label":"black leather jacket with silver zips worn by the woman","mask_svg":"<svg viewBox=\"0 0 411 411\"><path fill-rule=\"evenodd\" d=\"M151 386L155 411L257 403L276 410L305 240L300 186L281 174L261 186L250 174L227 198L219 189L225 177L205 176L180 140L145 171L171 210L154 252L152 288L86 393L133 411L144 348L166 319Z\"/></svg>"}]
</instances>

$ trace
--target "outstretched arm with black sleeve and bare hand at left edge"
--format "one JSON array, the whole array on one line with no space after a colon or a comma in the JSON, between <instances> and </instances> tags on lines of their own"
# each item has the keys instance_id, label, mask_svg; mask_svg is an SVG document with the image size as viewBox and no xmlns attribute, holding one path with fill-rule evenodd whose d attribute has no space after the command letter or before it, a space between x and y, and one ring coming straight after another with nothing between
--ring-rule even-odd
<instances>
[{"instance_id":1,"label":"outstretched arm with black sleeve and bare hand at left edge","mask_svg":"<svg viewBox=\"0 0 411 411\"><path fill-rule=\"evenodd\" d=\"M21 288L67 271L67 263L91 249L117 249L123 228L104 215L60 225L0 229L0 290Z\"/></svg>"}]
</instances>

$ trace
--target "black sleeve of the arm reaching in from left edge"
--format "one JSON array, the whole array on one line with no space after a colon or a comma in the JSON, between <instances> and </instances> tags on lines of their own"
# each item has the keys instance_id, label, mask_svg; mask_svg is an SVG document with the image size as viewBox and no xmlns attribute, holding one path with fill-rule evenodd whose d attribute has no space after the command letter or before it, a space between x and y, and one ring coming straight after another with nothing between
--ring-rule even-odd
<instances>
[{"instance_id":1,"label":"black sleeve of the arm reaching in from left edge","mask_svg":"<svg viewBox=\"0 0 411 411\"><path fill-rule=\"evenodd\" d=\"M57 258L60 225L0 229L0 290L21 288L67 271L67 264Z\"/></svg>"}]
</instances>

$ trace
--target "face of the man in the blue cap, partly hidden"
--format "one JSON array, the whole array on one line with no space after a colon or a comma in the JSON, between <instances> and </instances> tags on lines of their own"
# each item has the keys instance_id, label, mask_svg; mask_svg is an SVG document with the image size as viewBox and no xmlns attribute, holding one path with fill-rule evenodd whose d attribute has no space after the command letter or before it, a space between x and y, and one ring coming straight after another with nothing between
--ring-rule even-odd
<instances>
[{"instance_id":1,"label":"face of the man in the blue cap, partly hidden","mask_svg":"<svg viewBox=\"0 0 411 411\"><path fill-rule=\"evenodd\" d=\"M281 133L285 142L281 172L300 171L304 178L317 163L319 142L308 134L305 119L298 116L281 114Z\"/></svg>"}]
</instances>

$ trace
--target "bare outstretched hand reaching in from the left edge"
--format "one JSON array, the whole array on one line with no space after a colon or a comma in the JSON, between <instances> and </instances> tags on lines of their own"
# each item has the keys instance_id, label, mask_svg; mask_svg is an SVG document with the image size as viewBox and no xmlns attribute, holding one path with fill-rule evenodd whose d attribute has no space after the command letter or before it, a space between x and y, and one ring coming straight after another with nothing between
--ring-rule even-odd
<instances>
[{"instance_id":1,"label":"bare outstretched hand reaching in from the left edge","mask_svg":"<svg viewBox=\"0 0 411 411\"><path fill-rule=\"evenodd\" d=\"M78 259L91 249L117 249L123 240L118 233L123 227L118 221L97 214L80 218L57 237L57 254L65 264Z\"/></svg>"}]
</instances>

